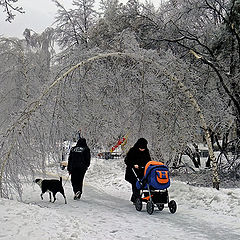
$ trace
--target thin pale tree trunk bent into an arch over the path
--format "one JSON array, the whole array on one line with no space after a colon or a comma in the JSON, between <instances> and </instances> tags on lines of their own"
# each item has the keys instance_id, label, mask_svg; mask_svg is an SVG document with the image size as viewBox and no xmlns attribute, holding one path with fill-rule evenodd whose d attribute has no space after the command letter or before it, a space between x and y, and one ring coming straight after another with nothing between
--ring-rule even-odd
<instances>
[{"instance_id":1,"label":"thin pale tree trunk bent into an arch over the path","mask_svg":"<svg viewBox=\"0 0 240 240\"><path fill-rule=\"evenodd\" d=\"M162 74L166 76L170 81L172 81L177 88L187 97L189 100L189 103L193 106L195 109L196 113L198 114L200 118L200 124L201 127L204 130L205 133L205 138L207 141L208 145L208 150L209 150L209 156L210 160L212 162L212 183L213 183L213 188L219 189L219 176L218 176L218 170L217 170L217 161L213 152L212 148L212 143L211 143L211 138L210 138L210 133L208 131L207 123L205 121L205 117L203 115L203 112L201 111L201 108L197 102L197 100L194 98L193 94L189 91L189 89L184 85L184 83L176 78L173 74L171 74L166 68L163 68L159 63L156 61L146 58L143 56L139 55L134 55L133 53L120 53L120 52L113 52L113 53L106 53L106 54L99 54L94 57L88 58L87 60L81 61L80 63L76 64L72 68L70 68L68 71L66 71L64 74L62 74L59 78L57 78L55 81L52 82L50 86L48 86L42 94L34 101L31 102L22 112L20 117L17 119L17 121L14 122L14 124L7 129L6 134L4 138L8 138L10 136L10 133L14 131L18 131L21 133L21 130L26 126L26 122L31 120L31 117L33 114L36 112L36 110L42 105L42 101L44 97L46 97L50 91L56 87L65 77L67 77L70 73L72 73L74 70L97 60L104 59L104 58L109 58L109 57L115 57L115 58L128 58L128 59L134 59L136 61L140 61L142 63L149 63L153 64L156 66L158 69L163 69ZM4 144L4 142L3 142ZM1 163L1 169L0 169L0 191L2 195L2 183L3 183L3 175L4 175L4 169L6 167L6 164L9 160L9 157L11 155L11 150L13 149L14 142L12 142L11 146L9 147L9 150L7 151L7 154L5 155L5 158L2 159Z\"/></svg>"}]
</instances>

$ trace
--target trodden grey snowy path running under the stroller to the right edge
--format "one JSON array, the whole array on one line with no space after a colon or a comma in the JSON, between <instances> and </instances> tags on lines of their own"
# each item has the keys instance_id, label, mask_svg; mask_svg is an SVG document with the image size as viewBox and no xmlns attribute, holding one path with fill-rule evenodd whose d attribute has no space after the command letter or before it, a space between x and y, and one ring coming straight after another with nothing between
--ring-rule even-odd
<instances>
[{"instance_id":1,"label":"trodden grey snowy path running under the stroller to the right edge","mask_svg":"<svg viewBox=\"0 0 240 240\"><path fill-rule=\"evenodd\" d=\"M240 239L240 232L234 233L236 219L224 215L212 215L206 211L187 209L181 206L175 214L167 208L148 215L145 208L137 212L128 200L86 187L86 197L79 202L70 200L70 216L88 218L94 229L100 229L98 239ZM187 205L187 204L186 204ZM80 211L80 213L78 212ZM213 221L214 219L214 221ZM216 219L218 222L216 222ZM225 220L224 220L225 219ZM90 221L89 221L90 220ZM238 221L239 223L239 221Z\"/></svg>"}]
</instances>

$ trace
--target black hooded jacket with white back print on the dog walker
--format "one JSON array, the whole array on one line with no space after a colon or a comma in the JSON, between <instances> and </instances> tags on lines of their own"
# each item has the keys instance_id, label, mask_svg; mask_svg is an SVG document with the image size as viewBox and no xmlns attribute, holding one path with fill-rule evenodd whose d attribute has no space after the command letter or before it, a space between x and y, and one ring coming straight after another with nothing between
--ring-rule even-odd
<instances>
[{"instance_id":1,"label":"black hooded jacket with white back print on the dog walker","mask_svg":"<svg viewBox=\"0 0 240 240\"><path fill-rule=\"evenodd\" d=\"M73 171L87 170L90 166L90 149L87 146L86 139L80 138L75 147L72 147L68 157L67 170L71 174Z\"/></svg>"}]
</instances>

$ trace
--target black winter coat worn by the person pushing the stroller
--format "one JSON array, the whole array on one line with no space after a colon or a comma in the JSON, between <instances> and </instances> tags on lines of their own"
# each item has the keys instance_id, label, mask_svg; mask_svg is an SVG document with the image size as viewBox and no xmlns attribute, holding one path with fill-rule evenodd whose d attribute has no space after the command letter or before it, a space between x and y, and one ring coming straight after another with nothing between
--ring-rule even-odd
<instances>
[{"instance_id":1,"label":"black winter coat worn by the person pushing the stroller","mask_svg":"<svg viewBox=\"0 0 240 240\"><path fill-rule=\"evenodd\" d=\"M132 148L130 148L130 150L128 151L128 153L124 159L124 162L127 165L126 173L125 173L125 180L130 182L131 184L136 183L137 178L132 171L132 168L134 165L138 165L140 167L139 169L134 168L134 170L135 170L137 176L140 179L142 179L143 174L144 174L144 168L142 168L142 167L145 167L145 165L149 161L151 161L149 150L147 148L145 148L144 151L140 151L138 142L137 142Z\"/></svg>"}]
</instances>

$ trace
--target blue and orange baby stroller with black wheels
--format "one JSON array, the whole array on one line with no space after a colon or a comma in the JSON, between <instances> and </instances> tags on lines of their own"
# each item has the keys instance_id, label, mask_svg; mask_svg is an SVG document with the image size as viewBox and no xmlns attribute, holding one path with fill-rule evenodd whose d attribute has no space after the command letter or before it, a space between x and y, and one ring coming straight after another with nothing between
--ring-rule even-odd
<instances>
[{"instance_id":1,"label":"blue and orange baby stroller with black wheels","mask_svg":"<svg viewBox=\"0 0 240 240\"><path fill-rule=\"evenodd\" d=\"M174 200L169 201L168 190L170 186L169 170L161 162L150 161L144 169L144 177L140 180L137 177L137 189L140 189L140 198L136 199L135 208L142 210L143 202L147 203L147 212L152 214L156 206L160 211L164 209L164 204L168 204L169 211L175 213L177 204Z\"/></svg>"}]
</instances>

